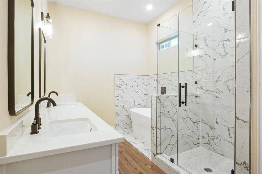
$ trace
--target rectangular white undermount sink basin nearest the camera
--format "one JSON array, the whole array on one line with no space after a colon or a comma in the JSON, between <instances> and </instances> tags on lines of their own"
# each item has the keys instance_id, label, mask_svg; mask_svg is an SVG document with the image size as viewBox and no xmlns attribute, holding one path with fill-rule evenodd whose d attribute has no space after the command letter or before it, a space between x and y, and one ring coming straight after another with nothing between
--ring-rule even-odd
<instances>
[{"instance_id":1,"label":"rectangular white undermount sink basin nearest the camera","mask_svg":"<svg viewBox=\"0 0 262 174\"><path fill-rule=\"evenodd\" d=\"M49 122L46 137L57 137L97 131L95 125L88 118L55 120Z\"/></svg>"}]
</instances>

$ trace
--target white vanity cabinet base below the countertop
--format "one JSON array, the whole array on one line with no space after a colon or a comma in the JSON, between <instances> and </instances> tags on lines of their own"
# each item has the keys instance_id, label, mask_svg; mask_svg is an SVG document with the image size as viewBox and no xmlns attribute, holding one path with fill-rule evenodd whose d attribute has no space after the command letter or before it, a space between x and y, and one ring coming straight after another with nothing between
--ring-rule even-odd
<instances>
[{"instance_id":1,"label":"white vanity cabinet base below the countertop","mask_svg":"<svg viewBox=\"0 0 262 174\"><path fill-rule=\"evenodd\" d=\"M60 153L1 165L9 173L118 173L118 144Z\"/></svg>"}]
</instances>

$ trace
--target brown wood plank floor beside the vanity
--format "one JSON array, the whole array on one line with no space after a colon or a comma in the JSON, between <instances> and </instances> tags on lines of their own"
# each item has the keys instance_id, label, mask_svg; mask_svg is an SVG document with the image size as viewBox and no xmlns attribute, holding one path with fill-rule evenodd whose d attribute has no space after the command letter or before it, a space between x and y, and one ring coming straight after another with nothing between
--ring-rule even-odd
<instances>
[{"instance_id":1,"label":"brown wood plank floor beside the vanity","mask_svg":"<svg viewBox=\"0 0 262 174\"><path fill-rule=\"evenodd\" d=\"M126 140L119 143L119 174L165 174Z\"/></svg>"}]
</instances>

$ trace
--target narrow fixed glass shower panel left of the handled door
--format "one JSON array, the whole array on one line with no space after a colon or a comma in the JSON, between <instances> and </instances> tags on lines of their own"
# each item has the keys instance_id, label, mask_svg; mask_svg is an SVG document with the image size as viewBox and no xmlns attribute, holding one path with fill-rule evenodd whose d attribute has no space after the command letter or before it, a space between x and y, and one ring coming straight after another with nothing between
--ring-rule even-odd
<instances>
[{"instance_id":1,"label":"narrow fixed glass shower panel left of the handled door","mask_svg":"<svg viewBox=\"0 0 262 174\"><path fill-rule=\"evenodd\" d=\"M158 154L167 158L177 154L178 44L178 15L175 15L158 26L158 94L161 88L166 88L166 94L160 98Z\"/></svg>"}]
</instances>

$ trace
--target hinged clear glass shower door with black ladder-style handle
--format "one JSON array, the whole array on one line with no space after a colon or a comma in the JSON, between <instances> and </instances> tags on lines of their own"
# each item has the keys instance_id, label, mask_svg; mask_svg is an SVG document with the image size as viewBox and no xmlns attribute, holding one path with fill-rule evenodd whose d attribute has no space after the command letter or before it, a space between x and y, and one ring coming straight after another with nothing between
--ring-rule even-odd
<instances>
[{"instance_id":1,"label":"hinged clear glass shower door with black ladder-style handle","mask_svg":"<svg viewBox=\"0 0 262 174\"><path fill-rule=\"evenodd\" d=\"M177 164L191 173L230 174L235 132L232 3L200 0L178 19Z\"/></svg>"}]
</instances>

